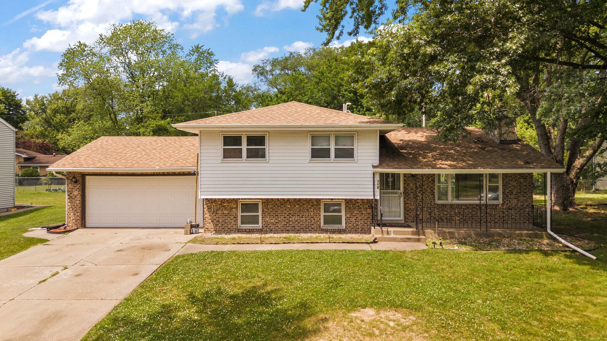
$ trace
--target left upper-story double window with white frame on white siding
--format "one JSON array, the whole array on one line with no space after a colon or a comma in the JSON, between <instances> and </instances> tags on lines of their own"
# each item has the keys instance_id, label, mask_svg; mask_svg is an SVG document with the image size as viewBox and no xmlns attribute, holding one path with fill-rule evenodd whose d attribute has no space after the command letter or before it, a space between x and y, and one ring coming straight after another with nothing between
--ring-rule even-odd
<instances>
[{"instance_id":1,"label":"left upper-story double window with white frame on white siding","mask_svg":"<svg viewBox=\"0 0 607 341\"><path fill-rule=\"evenodd\" d=\"M222 133L222 161L267 161L267 133Z\"/></svg>"}]
</instances>

